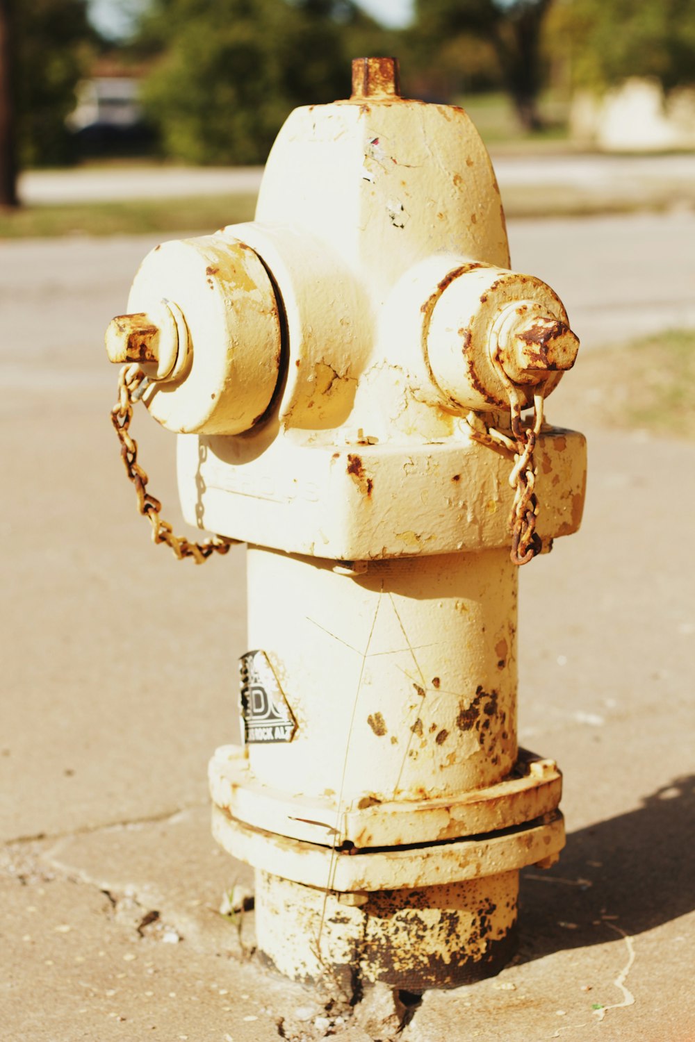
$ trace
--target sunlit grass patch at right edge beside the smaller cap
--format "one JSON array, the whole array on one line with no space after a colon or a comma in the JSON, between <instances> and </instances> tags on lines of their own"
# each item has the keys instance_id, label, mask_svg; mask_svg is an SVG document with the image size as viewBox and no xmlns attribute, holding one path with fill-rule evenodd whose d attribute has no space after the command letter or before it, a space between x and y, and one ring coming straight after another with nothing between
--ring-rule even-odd
<instances>
[{"instance_id":1,"label":"sunlit grass patch at right edge beside the smaller cap","mask_svg":"<svg viewBox=\"0 0 695 1042\"><path fill-rule=\"evenodd\" d=\"M568 393L572 384L573 425L695 441L694 329L579 352L575 371L565 380Z\"/></svg>"}]
</instances>

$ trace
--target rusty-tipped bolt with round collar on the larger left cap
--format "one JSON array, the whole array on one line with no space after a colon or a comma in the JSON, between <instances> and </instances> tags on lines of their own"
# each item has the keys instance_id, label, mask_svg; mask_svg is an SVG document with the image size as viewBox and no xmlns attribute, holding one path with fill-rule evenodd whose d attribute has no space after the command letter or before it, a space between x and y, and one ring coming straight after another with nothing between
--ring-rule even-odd
<instances>
[{"instance_id":1,"label":"rusty-tipped bolt with round collar on the larger left cap","mask_svg":"<svg viewBox=\"0 0 695 1042\"><path fill-rule=\"evenodd\" d=\"M163 300L154 314L136 312L117 315L106 329L106 353L110 362L152 364L156 372L151 379L173 379L185 364L189 336L181 312L169 300Z\"/></svg>"}]
</instances>

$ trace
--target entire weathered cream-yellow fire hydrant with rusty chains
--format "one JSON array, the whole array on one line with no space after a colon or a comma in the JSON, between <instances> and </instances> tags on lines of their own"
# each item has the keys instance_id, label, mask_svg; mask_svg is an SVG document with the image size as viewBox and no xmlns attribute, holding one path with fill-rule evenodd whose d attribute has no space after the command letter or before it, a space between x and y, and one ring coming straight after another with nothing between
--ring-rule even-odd
<instances>
[{"instance_id":1,"label":"entire weathered cream-yellow fire hydrant with rusty chains","mask_svg":"<svg viewBox=\"0 0 695 1042\"><path fill-rule=\"evenodd\" d=\"M106 339L155 540L248 544L244 741L209 784L262 956L412 991L497 972L519 870L564 845L556 765L517 743L517 565L579 526L586 447L543 423L578 343L510 270L468 116L357 59L348 100L288 119L255 221L157 246ZM139 396L209 543L147 494Z\"/></svg>"}]
</instances>

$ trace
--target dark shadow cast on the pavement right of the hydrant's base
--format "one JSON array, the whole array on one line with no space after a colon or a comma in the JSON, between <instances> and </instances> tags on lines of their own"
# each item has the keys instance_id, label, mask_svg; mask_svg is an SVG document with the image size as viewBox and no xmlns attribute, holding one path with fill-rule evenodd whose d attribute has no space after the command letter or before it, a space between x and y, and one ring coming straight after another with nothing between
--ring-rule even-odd
<instances>
[{"instance_id":1,"label":"dark shadow cast on the pavement right of the hydrant's base","mask_svg":"<svg viewBox=\"0 0 695 1042\"><path fill-rule=\"evenodd\" d=\"M572 833L549 871L522 873L518 963L632 936L695 909L695 775ZM609 928L612 924L614 932Z\"/></svg>"}]
</instances>

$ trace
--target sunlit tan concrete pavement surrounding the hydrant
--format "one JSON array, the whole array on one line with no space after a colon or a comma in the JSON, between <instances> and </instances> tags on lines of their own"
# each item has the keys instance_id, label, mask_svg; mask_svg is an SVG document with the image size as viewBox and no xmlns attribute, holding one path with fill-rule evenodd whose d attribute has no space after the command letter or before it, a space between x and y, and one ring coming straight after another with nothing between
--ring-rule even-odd
<instances>
[{"instance_id":1,"label":"sunlit tan concrete pavement surrounding the hydrant","mask_svg":"<svg viewBox=\"0 0 695 1042\"><path fill-rule=\"evenodd\" d=\"M612 308L630 331L641 306L689 314L692 230L615 218L511 237L596 347ZM152 547L122 472L101 334L147 247L0 247L0 1034L393 1038L260 970L252 913L218 912L249 877L209 838L205 791L237 735L244 554L195 568ZM571 426L571 376L562 395L550 416ZM520 736L564 769L568 847L525 873L515 965L427 993L403 1042L695 1037L695 447L589 433L582 529L521 575ZM177 521L174 439L144 413L135 436Z\"/></svg>"}]
</instances>

